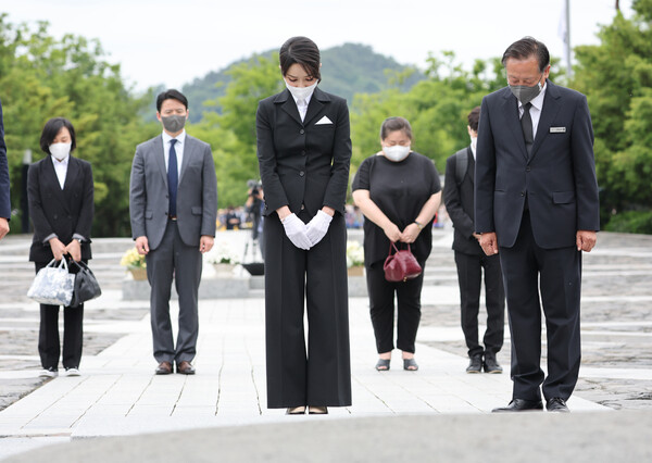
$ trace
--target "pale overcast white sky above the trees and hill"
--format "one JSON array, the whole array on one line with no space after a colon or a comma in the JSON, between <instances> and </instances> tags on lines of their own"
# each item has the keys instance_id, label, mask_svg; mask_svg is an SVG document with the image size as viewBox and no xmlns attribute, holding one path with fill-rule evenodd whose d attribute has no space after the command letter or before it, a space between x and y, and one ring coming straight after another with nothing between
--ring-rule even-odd
<instances>
[{"instance_id":1,"label":"pale overcast white sky above the trees and hill","mask_svg":"<svg viewBox=\"0 0 652 463\"><path fill-rule=\"evenodd\" d=\"M180 87L230 62L304 35L322 49L365 43L425 67L428 52L452 50L467 64L499 57L530 35L563 57L564 0L2 0L12 23L50 22L50 34L98 38L108 61L136 89ZM615 0L570 0L573 46L598 43ZM626 17L631 0L620 0Z\"/></svg>"}]
</instances>

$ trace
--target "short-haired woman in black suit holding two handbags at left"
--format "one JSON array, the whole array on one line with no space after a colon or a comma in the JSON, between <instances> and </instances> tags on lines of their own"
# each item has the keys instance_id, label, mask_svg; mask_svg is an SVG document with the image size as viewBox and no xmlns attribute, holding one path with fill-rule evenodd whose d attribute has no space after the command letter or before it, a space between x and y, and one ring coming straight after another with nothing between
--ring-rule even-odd
<instances>
[{"instance_id":1,"label":"short-haired woman in black suit holding two handbags at left","mask_svg":"<svg viewBox=\"0 0 652 463\"><path fill-rule=\"evenodd\" d=\"M29 261L37 273L52 259L70 255L88 262L91 258L92 171L90 163L71 155L76 146L73 124L63 117L51 118L40 138L48 155L29 166L27 195L34 224ZM68 376L79 375L83 320L84 304L63 309L63 367ZM40 376L57 376L61 352L58 305L40 305L38 352L43 368Z\"/></svg>"}]
</instances>

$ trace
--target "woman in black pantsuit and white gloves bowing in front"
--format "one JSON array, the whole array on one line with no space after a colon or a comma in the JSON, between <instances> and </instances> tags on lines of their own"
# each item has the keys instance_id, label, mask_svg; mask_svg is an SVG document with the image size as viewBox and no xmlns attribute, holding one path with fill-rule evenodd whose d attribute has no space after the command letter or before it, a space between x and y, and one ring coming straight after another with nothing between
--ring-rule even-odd
<instances>
[{"instance_id":1,"label":"woman in black pantsuit and white gloves bowing in front","mask_svg":"<svg viewBox=\"0 0 652 463\"><path fill-rule=\"evenodd\" d=\"M288 39L279 60L287 89L262 100L256 113L266 215L267 406L324 414L327 406L351 404L349 110L346 100L317 87L322 63L312 40Z\"/></svg>"}]
</instances>

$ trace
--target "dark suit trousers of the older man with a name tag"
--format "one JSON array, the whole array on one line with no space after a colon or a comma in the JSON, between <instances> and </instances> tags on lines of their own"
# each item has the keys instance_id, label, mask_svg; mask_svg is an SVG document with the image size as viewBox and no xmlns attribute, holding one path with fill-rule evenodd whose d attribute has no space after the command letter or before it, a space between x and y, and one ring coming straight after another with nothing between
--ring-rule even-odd
<instances>
[{"instance_id":1,"label":"dark suit trousers of the older man with a name tag","mask_svg":"<svg viewBox=\"0 0 652 463\"><path fill-rule=\"evenodd\" d=\"M507 314L512 334L512 380L515 399L543 397L567 400L581 359L579 300L581 253L575 247L537 246L529 213L525 212L516 242L500 248ZM539 293L540 287L540 293ZM548 334L548 376L541 362L541 306Z\"/></svg>"}]
</instances>

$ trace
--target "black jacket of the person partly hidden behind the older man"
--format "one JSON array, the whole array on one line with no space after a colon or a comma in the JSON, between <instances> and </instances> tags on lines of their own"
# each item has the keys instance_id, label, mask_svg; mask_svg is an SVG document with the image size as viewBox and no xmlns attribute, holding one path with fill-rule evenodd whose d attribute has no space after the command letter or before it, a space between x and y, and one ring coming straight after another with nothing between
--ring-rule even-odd
<instances>
[{"instance_id":1,"label":"black jacket of the person partly hidden behind the older man","mask_svg":"<svg viewBox=\"0 0 652 463\"><path fill-rule=\"evenodd\" d=\"M473 236L475 230L473 207L475 160L471 147L467 147L461 154L468 159L462 183L457 185L456 157L460 154L453 154L446 161L446 182L443 184L443 203L455 228L453 249L464 254L484 255L480 243Z\"/></svg>"}]
</instances>

